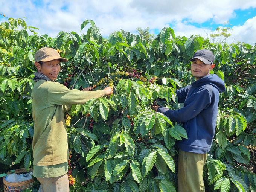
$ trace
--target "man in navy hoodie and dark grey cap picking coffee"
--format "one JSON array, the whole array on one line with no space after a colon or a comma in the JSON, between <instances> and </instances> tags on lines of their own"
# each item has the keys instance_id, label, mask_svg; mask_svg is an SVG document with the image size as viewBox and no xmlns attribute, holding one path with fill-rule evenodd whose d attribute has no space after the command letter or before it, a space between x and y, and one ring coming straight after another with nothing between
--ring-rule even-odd
<instances>
[{"instance_id":1,"label":"man in navy hoodie and dark grey cap picking coffee","mask_svg":"<svg viewBox=\"0 0 256 192\"><path fill-rule=\"evenodd\" d=\"M195 82L176 90L178 100L184 103L178 110L152 106L169 119L182 122L187 138L178 141L178 191L204 192L203 167L206 163L215 132L218 114L219 93L225 91L225 84L217 75L210 75L215 67L215 57L209 50L195 52L191 72Z\"/></svg>"}]
</instances>

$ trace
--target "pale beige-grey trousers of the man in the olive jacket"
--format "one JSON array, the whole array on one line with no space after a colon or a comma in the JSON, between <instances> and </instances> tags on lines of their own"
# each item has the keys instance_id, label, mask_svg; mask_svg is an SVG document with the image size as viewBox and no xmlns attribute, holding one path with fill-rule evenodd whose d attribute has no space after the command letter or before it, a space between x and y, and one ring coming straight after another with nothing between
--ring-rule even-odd
<instances>
[{"instance_id":1,"label":"pale beige-grey trousers of the man in the olive jacket","mask_svg":"<svg viewBox=\"0 0 256 192\"><path fill-rule=\"evenodd\" d=\"M38 192L69 192L69 178L67 174L59 177L38 178L41 183Z\"/></svg>"}]
</instances>

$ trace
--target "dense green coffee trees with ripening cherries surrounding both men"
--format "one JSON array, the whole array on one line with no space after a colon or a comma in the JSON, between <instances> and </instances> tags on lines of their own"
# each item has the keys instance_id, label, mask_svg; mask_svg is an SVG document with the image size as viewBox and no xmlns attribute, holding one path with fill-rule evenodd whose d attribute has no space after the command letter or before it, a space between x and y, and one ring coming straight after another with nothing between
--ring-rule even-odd
<instances>
[{"instance_id":1,"label":"dense green coffee trees with ripening cherries surrounding both men","mask_svg":"<svg viewBox=\"0 0 256 192\"><path fill-rule=\"evenodd\" d=\"M22 26L18 30L18 25ZM163 28L148 43L119 30L103 38L92 20L86 33L59 32L38 36L22 19L0 26L0 163L5 172L32 166L33 121L30 93L34 54L57 49L69 59L57 79L70 89L114 88L106 98L73 105L65 114L69 136L69 174L73 191L177 191L176 140L187 138L151 105L179 109L175 90L195 81L189 59L195 51L215 55L217 74L226 83L220 94L216 134L204 167L208 191L255 191L256 47L245 43L210 43L198 35L176 36ZM27 30L34 34L28 35ZM3 165L3 166L2 166Z\"/></svg>"}]
</instances>

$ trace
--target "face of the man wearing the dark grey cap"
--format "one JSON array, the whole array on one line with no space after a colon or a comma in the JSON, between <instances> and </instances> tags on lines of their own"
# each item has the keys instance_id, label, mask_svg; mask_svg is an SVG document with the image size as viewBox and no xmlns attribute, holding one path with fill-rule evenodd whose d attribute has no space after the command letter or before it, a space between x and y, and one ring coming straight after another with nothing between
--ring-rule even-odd
<instances>
[{"instance_id":1,"label":"face of the man wearing the dark grey cap","mask_svg":"<svg viewBox=\"0 0 256 192\"><path fill-rule=\"evenodd\" d=\"M206 75L210 74L210 70L215 67L215 64L207 65L200 59L193 59L191 63L191 72L192 75L195 77L195 80L201 79Z\"/></svg>"}]
</instances>

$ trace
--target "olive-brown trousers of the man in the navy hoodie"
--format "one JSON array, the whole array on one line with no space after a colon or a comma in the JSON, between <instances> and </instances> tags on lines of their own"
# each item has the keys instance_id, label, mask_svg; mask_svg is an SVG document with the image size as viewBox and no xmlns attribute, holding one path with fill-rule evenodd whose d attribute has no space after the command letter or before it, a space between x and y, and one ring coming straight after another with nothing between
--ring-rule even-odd
<instances>
[{"instance_id":1,"label":"olive-brown trousers of the man in the navy hoodie","mask_svg":"<svg viewBox=\"0 0 256 192\"><path fill-rule=\"evenodd\" d=\"M207 153L198 154L179 150L179 192L204 192L203 169L206 160Z\"/></svg>"}]
</instances>

